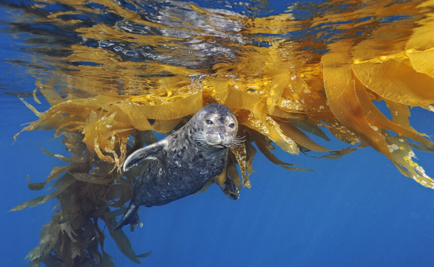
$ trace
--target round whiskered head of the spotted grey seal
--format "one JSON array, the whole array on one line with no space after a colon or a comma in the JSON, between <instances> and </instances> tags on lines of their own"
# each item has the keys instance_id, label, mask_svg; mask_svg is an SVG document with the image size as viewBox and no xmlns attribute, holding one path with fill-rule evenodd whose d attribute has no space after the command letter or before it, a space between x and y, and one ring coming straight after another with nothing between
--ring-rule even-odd
<instances>
[{"instance_id":1,"label":"round whiskered head of the spotted grey seal","mask_svg":"<svg viewBox=\"0 0 434 267\"><path fill-rule=\"evenodd\" d=\"M203 107L188 124L190 137L200 147L224 149L239 143L235 137L237 118L225 105L215 103Z\"/></svg>"}]
</instances>

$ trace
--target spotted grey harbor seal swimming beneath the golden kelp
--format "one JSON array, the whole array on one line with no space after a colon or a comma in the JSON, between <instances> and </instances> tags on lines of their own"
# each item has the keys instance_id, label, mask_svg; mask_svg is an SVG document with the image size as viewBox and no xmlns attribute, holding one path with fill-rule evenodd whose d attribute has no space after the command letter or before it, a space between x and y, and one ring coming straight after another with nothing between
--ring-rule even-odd
<instances>
[{"instance_id":1,"label":"spotted grey harbor seal swimming beneath the golden kelp","mask_svg":"<svg viewBox=\"0 0 434 267\"><path fill-rule=\"evenodd\" d=\"M113 231L128 224L142 227L140 205L160 206L179 200L197 193L211 180L216 180L227 197L237 200L240 192L226 172L229 147L242 141L236 137L237 131L237 118L228 107L209 104L175 133L128 156L124 171L146 159L148 162Z\"/></svg>"}]
</instances>

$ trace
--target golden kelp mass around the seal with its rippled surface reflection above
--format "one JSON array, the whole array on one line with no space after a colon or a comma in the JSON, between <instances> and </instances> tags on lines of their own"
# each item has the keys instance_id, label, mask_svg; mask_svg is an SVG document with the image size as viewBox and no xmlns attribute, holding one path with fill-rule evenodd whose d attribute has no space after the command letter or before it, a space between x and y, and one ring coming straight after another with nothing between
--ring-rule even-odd
<instances>
[{"instance_id":1,"label":"golden kelp mass around the seal with its rippled surface reflection above","mask_svg":"<svg viewBox=\"0 0 434 267\"><path fill-rule=\"evenodd\" d=\"M253 143L290 170L306 169L277 159L275 146L328 158L372 146L403 175L434 188L413 160L414 149L434 152L434 143L408 120L409 107L434 111L434 1L303 3L277 15L266 14L266 2L214 4L14 7L27 17L10 31L32 34L32 57L21 64L36 79L34 101L42 96L51 105L39 112L23 100L39 117L23 131L55 130L69 151L44 150L69 165L53 168L45 182L29 180L29 188L54 181L56 190L12 209L59 200L28 255L32 266L112 264L98 222L112 229L132 197L138 170L122 173L125 157L155 142L152 131L169 134L213 102L234 111L246 139L229 155L229 176L240 188L251 187ZM391 119L375 106L381 100ZM329 140L323 129L349 147L331 151L308 136ZM136 255L122 230L110 235L132 261L149 255Z\"/></svg>"}]
</instances>

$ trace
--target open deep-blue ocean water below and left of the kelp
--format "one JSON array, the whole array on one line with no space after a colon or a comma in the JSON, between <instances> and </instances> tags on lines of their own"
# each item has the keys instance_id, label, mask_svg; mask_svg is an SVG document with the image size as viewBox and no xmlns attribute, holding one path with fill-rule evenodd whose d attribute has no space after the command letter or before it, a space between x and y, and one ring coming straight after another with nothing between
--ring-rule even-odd
<instances>
[{"instance_id":1,"label":"open deep-blue ocean water below and left of the kelp","mask_svg":"<svg viewBox=\"0 0 434 267\"><path fill-rule=\"evenodd\" d=\"M0 9L0 14L7 12ZM1 25L2 29L7 26ZM18 212L15 205L41 195L27 188L43 181L62 162L54 153L65 148L53 132L13 135L36 116L17 97L31 101L35 80L26 67L11 64L25 56L22 40L0 31L0 266L27 266L27 252L39 242L51 219L51 200ZM14 94L9 94L14 92ZM42 98L40 98L42 100ZM40 111L49 107L43 102ZM433 114L413 108L412 126L433 135ZM328 147L341 145L332 142ZM434 175L434 155L417 151L419 163ZM141 207L143 228L128 233L147 266L434 266L434 192L401 175L372 148L338 160L276 155L314 171L295 172L255 156L252 189L239 200L217 186L165 206ZM45 190L45 189L44 189ZM105 230L106 234L107 229ZM108 237L106 251L116 266L137 266Z\"/></svg>"}]
</instances>

